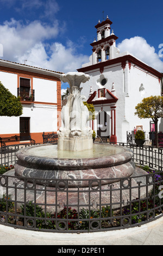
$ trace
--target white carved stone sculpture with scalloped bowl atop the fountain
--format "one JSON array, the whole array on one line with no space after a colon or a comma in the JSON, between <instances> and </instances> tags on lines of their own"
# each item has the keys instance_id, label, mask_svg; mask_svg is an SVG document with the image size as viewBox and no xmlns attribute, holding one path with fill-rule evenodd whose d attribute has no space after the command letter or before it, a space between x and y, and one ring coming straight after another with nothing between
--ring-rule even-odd
<instances>
[{"instance_id":1,"label":"white carved stone sculpture with scalloped bowl atop the fountain","mask_svg":"<svg viewBox=\"0 0 163 256\"><path fill-rule=\"evenodd\" d=\"M71 72L60 76L63 82L68 82L69 96L67 104L62 108L61 119L64 127L58 131L58 150L83 151L93 148L92 130L87 127L89 111L83 104L85 96L81 96L80 83L90 79L89 75L81 72Z\"/></svg>"}]
</instances>

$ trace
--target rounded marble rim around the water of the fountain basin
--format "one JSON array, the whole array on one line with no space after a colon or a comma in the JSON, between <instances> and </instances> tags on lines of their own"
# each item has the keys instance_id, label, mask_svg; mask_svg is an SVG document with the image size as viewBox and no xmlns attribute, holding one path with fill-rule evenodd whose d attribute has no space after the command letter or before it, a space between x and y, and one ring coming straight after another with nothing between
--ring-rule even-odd
<instances>
[{"instance_id":1,"label":"rounded marble rim around the water of the fountain basin","mask_svg":"<svg viewBox=\"0 0 163 256\"><path fill-rule=\"evenodd\" d=\"M51 146L53 144L43 144L43 145L35 145L32 148L36 147L46 147ZM108 144L109 146L110 144ZM112 167L112 166L118 166L120 164L127 163L131 160L133 157L133 151L131 151L128 148L122 147L120 145L111 145L113 147L122 148L122 152L110 155L110 156L100 156L100 157L92 157L92 158L80 158L80 159L65 159L57 157L55 158L49 158L49 157L40 157L40 156L33 156L28 155L27 152L30 148L24 148L19 151L17 151L16 156L18 160L39 165L43 164L44 166L52 167L54 165L55 167L64 168L70 166L71 169L73 168L79 168L79 167L89 167L89 168L99 168L99 167ZM109 164L109 166L108 166Z\"/></svg>"}]
</instances>

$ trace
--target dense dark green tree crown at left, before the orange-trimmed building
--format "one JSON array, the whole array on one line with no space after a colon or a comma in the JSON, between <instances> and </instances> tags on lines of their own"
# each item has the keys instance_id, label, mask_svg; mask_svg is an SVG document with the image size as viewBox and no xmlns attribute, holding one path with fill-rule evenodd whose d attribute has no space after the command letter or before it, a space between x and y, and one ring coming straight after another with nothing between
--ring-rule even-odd
<instances>
[{"instance_id":1,"label":"dense dark green tree crown at left, before the orange-trimmed building","mask_svg":"<svg viewBox=\"0 0 163 256\"><path fill-rule=\"evenodd\" d=\"M0 116L18 117L22 112L20 97L12 95L0 82Z\"/></svg>"}]
</instances>

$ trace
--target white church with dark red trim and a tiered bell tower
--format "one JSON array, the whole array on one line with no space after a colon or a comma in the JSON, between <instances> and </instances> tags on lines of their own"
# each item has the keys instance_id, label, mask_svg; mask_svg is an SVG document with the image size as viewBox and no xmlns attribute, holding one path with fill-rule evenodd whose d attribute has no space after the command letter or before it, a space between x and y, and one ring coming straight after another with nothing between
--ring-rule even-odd
<instances>
[{"instance_id":1,"label":"white church with dark red trim and a tiered bell tower","mask_svg":"<svg viewBox=\"0 0 163 256\"><path fill-rule=\"evenodd\" d=\"M91 44L90 62L78 71L90 75L81 94L95 107L92 129L110 142L126 142L127 131L152 130L152 119L139 119L134 115L135 106L144 97L162 95L163 74L129 52L120 53L111 25L107 16L95 26L97 40ZM163 121L159 122L159 131L163 132Z\"/></svg>"}]
</instances>

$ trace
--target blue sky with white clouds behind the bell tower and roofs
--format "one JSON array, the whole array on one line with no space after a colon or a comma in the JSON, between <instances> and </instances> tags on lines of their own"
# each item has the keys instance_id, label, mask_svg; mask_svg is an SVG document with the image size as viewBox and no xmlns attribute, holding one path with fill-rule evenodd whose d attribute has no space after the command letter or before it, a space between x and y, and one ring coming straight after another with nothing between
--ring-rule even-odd
<instances>
[{"instance_id":1,"label":"blue sky with white clouds behind the bell tower and roofs","mask_svg":"<svg viewBox=\"0 0 163 256\"><path fill-rule=\"evenodd\" d=\"M108 15L120 51L163 72L162 10L162 0L0 0L0 58L76 71L89 62L95 25Z\"/></svg>"}]
</instances>

